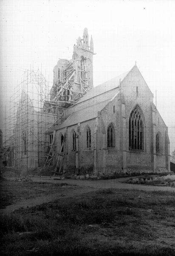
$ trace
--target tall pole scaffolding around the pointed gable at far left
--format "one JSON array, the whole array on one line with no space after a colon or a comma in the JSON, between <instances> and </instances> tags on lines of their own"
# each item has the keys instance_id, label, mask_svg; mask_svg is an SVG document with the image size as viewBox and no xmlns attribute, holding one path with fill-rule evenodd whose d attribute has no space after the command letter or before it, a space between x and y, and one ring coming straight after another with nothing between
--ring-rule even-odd
<instances>
[{"instance_id":1,"label":"tall pole scaffolding around the pointed gable at far left","mask_svg":"<svg viewBox=\"0 0 175 256\"><path fill-rule=\"evenodd\" d=\"M60 118L60 111L46 111L49 82L42 71L25 70L14 88L5 120L3 163L21 169L43 166L50 142L45 131Z\"/></svg>"}]
</instances>

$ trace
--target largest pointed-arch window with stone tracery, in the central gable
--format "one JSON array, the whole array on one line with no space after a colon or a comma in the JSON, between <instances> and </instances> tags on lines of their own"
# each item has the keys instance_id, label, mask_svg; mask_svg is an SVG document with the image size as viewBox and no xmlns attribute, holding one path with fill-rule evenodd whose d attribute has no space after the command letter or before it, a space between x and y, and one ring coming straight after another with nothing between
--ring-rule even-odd
<instances>
[{"instance_id":1,"label":"largest pointed-arch window with stone tracery, in the central gable","mask_svg":"<svg viewBox=\"0 0 175 256\"><path fill-rule=\"evenodd\" d=\"M129 148L144 149L144 122L141 111L137 107L130 113Z\"/></svg>"}]
</instances>

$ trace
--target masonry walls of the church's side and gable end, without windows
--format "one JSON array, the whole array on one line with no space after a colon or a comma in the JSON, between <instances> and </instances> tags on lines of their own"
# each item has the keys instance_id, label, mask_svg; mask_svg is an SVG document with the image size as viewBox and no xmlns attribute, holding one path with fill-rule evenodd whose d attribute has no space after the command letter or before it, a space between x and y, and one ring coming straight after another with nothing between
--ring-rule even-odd
<instances>
[{"instance_id":1,"label":"masonry walls of the church's side and gable end, without windows","mask_svg":"<svg viewBox=\"0 0 175 256\"><path fill-rule=\"evenodd\" d=\"M85 96L86 97L86 96ZM106 106L96 117L56 131L53 147L54 164L61 148L61 135L65 135L65 159L63 171L92 172L99 174L149 173L168 169L169 140L167 126L158 111L153 108L153 94L136 66L121 82L121 92L115 88L99 96L87 99L65 110L65 116L88 108L98 102ZM135 106L144 116L144 149L129 148L129 117ZM97 106L98 107L98 106ZM99 108L100 109L100 108ZM70 122L71 123L71 122ZM115 146L107 146L107 127L113 124ZM91 130L91 147L86 146L86 128ZM73 150L73 130L77 135L77 148ZM155 153L155 136L161 134L160 152ZM90 173L91 174L91 173Z\"/></svg>"}]
</instances>

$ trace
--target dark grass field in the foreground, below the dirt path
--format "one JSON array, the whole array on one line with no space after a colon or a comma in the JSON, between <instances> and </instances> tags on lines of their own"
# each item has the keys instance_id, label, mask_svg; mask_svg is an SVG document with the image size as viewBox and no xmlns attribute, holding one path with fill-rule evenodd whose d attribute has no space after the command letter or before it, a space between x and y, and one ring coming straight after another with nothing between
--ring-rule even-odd
<instances>
[{"instance_id":1,"label":"dark grass field in the foreground, below the dirt path","mask_svg":"<svg viewBox=\"0 0 175 256\"><path fill-rule=\"evenodd\" d=\"M1 255L175 255L175 193L104 189L1 216Z\"/></svg>"}]
</instances>

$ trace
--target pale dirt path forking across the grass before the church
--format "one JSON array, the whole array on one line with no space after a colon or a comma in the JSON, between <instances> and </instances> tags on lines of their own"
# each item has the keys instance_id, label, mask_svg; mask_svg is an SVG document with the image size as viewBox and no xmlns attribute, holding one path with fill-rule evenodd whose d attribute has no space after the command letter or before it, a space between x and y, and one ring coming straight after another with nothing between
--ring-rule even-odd
<instances>
[{"instance_id":1,"label":"pale dirt path forking across the grass before the church","mask_svg":"<svg viewBox=\"0 0 175 256\"><path fill-rule=\"evenodd\" d=\"M53 180L49 178L31 178L34 182L49 182L49 183L62 183L62 180ZM113 180L64 180L64 182L77 185L73 189L65 189L65 191L55 192L51 195L42 195L37 198L28 199L25 201L18 202L16 204L11 204L7 206L5 209L0 209L0 215L9 214L16 209L20 209L21 207L33 207L39 204L48 203L51 201L58 200L62 197L73 197L75 195L84 194L87 192L96 191L98 189L136 189L141 191L167 191L167 192L175 192L175 188L168 186L146 186L146 185L137 185L137 184L128 184L121 183L126 178L113 179ZM119 182L120 181L120 182Z\"/></svg>"}]
</instances>

